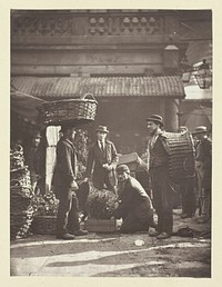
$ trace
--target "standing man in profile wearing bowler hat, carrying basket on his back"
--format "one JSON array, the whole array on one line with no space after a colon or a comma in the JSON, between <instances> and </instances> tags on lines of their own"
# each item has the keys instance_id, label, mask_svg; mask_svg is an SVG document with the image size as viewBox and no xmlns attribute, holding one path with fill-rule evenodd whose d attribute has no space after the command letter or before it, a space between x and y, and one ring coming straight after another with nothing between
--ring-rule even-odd
<instances>
[{"instance_id":1,"label":"standing man in profile wearing bowler hat, carrying basket on his back","mask_svg":"<svg viewBox=\"0 0 222 287\"><path fill-rule=\"evenodd\" d=\"M158 215L158 228L151 236L167 239L173 229L173 191L169 176L169 146L164 132L162 117L152 115L147 119L151 136L148 144L149 171L153 192L153 205Z\"/></svg>"}]
</instances>

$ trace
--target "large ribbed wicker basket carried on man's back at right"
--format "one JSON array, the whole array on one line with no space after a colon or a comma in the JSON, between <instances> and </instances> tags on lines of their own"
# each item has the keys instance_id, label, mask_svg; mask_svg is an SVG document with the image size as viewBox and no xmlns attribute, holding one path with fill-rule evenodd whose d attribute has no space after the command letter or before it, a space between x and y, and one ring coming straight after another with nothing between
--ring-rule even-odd
<instances>
[{"instance_id":1,"label":"large ribbed wicker basket carried on man's back at right","mask_svg":"<svg viewBox=\"0 0 222 287\"><path fill-rule=\"evenodd\" d=\"M165 132L170 146L170 176L174 182L195 175L194 145L189 132Z\"/></svg>"}]
</instances>

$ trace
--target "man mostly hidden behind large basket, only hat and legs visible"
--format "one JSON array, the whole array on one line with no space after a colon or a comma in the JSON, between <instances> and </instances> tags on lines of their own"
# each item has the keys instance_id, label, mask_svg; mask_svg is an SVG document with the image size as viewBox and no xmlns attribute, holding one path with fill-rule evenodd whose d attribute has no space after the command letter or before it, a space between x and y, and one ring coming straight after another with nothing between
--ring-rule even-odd
<instances>
[{"instance_id":1,"label":"man mostly hidden behind large basket, only hat and legs visible","mask_svg":"<svg viewBox=\"0 0 222 287\"><path fill-rule=\"evenodd\" d=\"M185 126L180 126L178 132L182 135L189 132ZM195 177L182 178L179 180L179 188L181 195L181 204L182 204L182 214L181 218L190 218L195 214L196 205L195 205L195 194L194 194L194 185Z\"/></svg>"}]
</instances>

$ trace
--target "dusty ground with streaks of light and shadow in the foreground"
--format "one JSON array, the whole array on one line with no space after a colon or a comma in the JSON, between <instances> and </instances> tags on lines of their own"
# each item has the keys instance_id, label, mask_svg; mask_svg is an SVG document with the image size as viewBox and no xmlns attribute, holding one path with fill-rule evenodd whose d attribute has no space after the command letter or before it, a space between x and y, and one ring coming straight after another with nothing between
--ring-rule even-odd
<instances>
[{"instance_id":1,"label":"dusty ground with streaks of light and shadow in the foreground","mask_svg":"<svg viewBox=\"0 0 222 287\"><path fill-rule=\"evenodd\" d=\"M13 240L11 276L210 278L210 224L180 219L179 212L174 231L189 226L193 237L91 232L73 241L37 235Z\"/></svg>"}]
</instances>

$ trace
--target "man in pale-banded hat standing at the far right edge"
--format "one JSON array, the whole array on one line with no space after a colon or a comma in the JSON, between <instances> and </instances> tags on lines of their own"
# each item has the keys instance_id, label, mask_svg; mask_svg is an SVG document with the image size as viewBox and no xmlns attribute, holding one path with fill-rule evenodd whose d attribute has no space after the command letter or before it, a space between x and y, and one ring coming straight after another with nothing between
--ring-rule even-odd
<instances>
[{"instance_id":1,"label":"man in pale-banded hat standing at the far right edge","mask_svg":"<svg viewBox=\"0 0 222 287\"><path fill-rule=\"evenodd\" d=\"M211 212L212 141L208 137L208 129L204 126L196 127L193 136L198 139L195 168L201 209L201 217L198 222L202 224L210 219Z\"/></svg>"}]
</instances>

